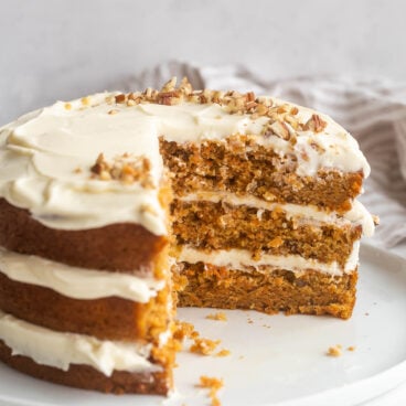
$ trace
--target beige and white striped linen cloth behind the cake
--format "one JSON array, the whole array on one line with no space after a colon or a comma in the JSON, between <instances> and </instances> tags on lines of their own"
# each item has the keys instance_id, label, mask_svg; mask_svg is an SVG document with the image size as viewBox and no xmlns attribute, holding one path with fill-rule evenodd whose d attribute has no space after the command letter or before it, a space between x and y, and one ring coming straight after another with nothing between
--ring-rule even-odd
<instances>
[{"instance_id":1,"label":"beige and white striped linen cloth behind the cake","mask_svg":"<svg viewBox=\"0 0 406 406\"><path fill-rule=\"evenodd\" d=\"M341 76L266 81L238 66L169 62L119 85L159 87L171 76L188 76L195 88L254 90L330 115L357 139L372 167L361 201L381 217L374 243L393 247L406 239L406 84Z\"/></svg>"}]
</instances>

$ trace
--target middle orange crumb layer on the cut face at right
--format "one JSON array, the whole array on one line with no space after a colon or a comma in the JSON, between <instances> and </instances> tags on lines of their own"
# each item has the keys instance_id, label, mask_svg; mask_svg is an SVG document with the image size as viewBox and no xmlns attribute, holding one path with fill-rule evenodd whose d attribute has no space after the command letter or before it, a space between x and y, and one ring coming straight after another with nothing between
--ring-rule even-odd
<instances>
[{"instance_id":1,"label":"middle orange crumb layer on the cut face at right","mask_svg":"<svg viewBox=\"0 0 406 406\"><path fill-rule=\"evenodd\" d=\"M316 223L287 217L281 206L273 211L207 201L172 203L173 233L178 245L206 250L242 248L273 255L296 254L344 266L362 226ZM199 223L199 227L196 224Z\"/></svg>"}]
</instances>

